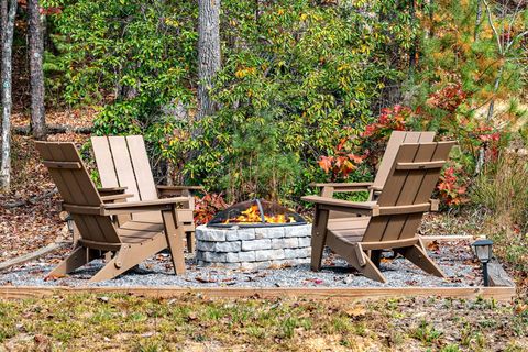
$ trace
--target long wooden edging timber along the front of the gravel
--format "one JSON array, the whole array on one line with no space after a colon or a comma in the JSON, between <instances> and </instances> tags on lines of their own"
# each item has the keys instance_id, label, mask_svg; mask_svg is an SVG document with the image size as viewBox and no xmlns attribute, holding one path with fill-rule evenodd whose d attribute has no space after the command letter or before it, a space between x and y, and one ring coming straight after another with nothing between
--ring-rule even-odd
<instances>
[{"instance_id":1,"label":"long wooden edging timber along the front of the gravel","mask_svg":"<svg viewBox=\"0 0 528 352\"><path fill-rule=\"evenodd\" d=\"M2 286L0 298L40 298L70 294L128 294L150 298L174 298L183 295L200 295L207 298L336 298L366 299L392 297L452 297L474 299L494 298L508 301L515 297L513 287L45 287L45 286Z\"/></svg>"}]
</instances>

